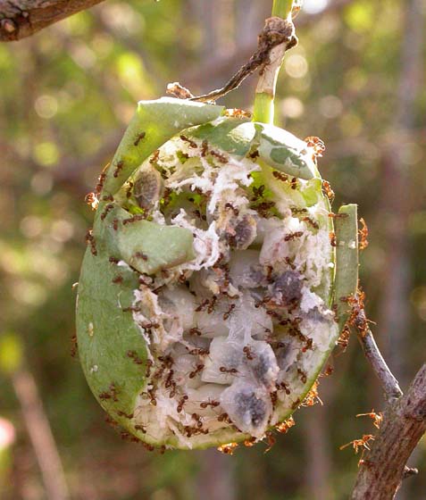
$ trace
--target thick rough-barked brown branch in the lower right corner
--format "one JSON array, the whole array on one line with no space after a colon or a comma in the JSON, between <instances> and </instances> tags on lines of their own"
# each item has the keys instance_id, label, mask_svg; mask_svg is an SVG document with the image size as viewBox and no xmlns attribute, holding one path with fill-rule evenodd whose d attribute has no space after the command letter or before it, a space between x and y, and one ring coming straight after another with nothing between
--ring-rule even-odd
<instances>
[{"instance_id":1,"label":"thick rough-barked brown branch in the lower right corner","mask_svg":"<svg viewBox=\"0 0 426 500\"><path fill-rule=\"evenodd\" d=\"M366 450L352 500L391 500L407 477L406 462L426 432L426 364L405 396L388 404L371 451ZM412 471L408 475L415 473Z\"/></svg>"}]
</instances>

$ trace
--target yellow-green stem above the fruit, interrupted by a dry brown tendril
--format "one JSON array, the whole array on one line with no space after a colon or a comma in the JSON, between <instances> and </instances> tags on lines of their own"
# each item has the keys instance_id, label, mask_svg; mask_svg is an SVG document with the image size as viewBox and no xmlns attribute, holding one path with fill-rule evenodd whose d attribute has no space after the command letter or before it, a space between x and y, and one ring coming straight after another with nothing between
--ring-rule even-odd
<instances>
[{"instance_id":1,"label":"yellow-green stem above the fruit, interrupted by a dry brown tendril","mask_svg":"<svg viewBox=\"0 0 426 500\"><path fill-rule=\"evenodd\" d=\"M294 3L295 0L273 0L272 16L288 19L291 16ZM273 71L273 86L268 92L264 91L261 84L263 77L261 76L259 80L259 85L256 88L253 121L273 124L275 87L277 85L278 73L280 72L280 64Z\"/></svg>"}]
</instances>

